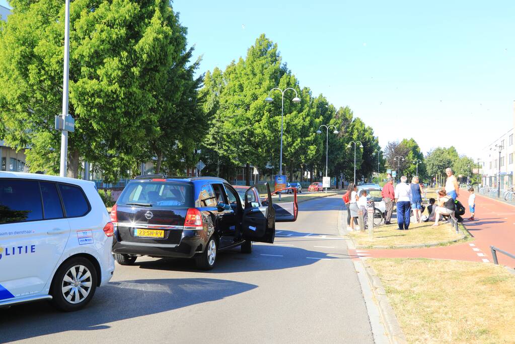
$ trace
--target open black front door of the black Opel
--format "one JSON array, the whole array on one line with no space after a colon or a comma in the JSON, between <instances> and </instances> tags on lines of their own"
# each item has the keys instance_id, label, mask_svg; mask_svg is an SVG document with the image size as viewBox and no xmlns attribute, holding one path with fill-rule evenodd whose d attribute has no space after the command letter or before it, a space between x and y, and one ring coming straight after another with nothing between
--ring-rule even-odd
<instances>
[{"instance_id":1,"label":"open black front door of the black Opel","mask_svg":"<svg viewBox=\"0 0 515 344\"><path fill-rule=\"evenodd\" d=\"M276 237L276 215L272 202L258 204L251 201L251 194L258 187L266 187L268 199L271 199L270 186L268 183L256 184L250 187L245 193L244 213L242 220L243 236L254 242L273 244Z\"/></svg>"}]
</instances>

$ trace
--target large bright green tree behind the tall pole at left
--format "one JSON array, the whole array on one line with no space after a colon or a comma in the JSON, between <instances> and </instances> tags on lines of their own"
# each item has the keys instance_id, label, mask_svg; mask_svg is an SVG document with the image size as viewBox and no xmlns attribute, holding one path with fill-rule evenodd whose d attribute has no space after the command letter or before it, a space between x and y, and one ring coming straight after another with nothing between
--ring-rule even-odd
<instances>
[{"instance_id":1,"label":"large bright green tree behind the tall pole at left","mask_svg":"<svg viewBox=\"0 0 515 344\"><path fill-rule=\"evenodd\" d=\"M31 170L56 173L60 135L53 123L61 112L64 3L10 5L0 33L0 122L9 144L32 147ZM114 180L151 155L141 147L161 137L167 101L181 99L182 90L167 82L184 56L185 29L167 2L148 0L76 0L70 20L69 112L76 131L68 141L69 173L77 177L84 159Z\"/></svg>"}]
</instances>

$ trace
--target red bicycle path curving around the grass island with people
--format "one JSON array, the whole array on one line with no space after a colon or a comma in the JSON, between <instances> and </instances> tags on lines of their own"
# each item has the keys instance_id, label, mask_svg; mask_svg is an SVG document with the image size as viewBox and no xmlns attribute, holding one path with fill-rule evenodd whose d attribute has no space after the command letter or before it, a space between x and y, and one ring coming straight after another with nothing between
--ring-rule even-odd
<instances>
[{"instance_id":1,"label":"red bicycle path curving around the grass island with people","mask_svg":"<svg viewBox=\"0 0 515 344\"><path fill-rule=\"evenodd\" d=\"M492 263L490 246L515 254L515 206L476 194L475 220L469 221L467 190L460 190L458 200L467 208L463 224L473 241L445 247L414 249L356 249L349 250L356 257L434 258ZM392 219L393 222L393 219ZM499 264L515 268L515 259L497 253Z\"/></svg>"}]
</instances>

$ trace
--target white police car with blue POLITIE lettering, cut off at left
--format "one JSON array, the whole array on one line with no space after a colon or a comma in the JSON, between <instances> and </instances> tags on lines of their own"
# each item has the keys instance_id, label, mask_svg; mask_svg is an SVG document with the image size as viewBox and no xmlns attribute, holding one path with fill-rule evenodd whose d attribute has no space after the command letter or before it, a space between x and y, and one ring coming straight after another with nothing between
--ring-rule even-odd
<instances>
[{"instance_id":1,"label":"white police car with blue POLITIE lettering, cut off at left","mask_svg":"<svg viewBox=\"0 0 515 344\"><path fill-rule=\"evenodd\" d=\"M114 271L113 224L89 181L0 171L0 308L85 306Z\"/></svg>"}]
</instances>

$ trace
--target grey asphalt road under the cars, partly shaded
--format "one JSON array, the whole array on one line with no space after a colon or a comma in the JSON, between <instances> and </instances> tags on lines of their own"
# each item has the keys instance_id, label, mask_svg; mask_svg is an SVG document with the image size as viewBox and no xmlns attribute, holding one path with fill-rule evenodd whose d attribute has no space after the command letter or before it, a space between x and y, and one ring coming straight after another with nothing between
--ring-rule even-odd
<instances>
[{"instance_id":1,"label":"grey asphalt road under the cars, partly shaded","mask_svg":"<svg viewBox=\"0 0 515 344\"><path fill-rule=\"evenodd\" d=\"M0 342L373 342L345 240L341 197L300 203L273 245L220 252L209 272L188 260L116 264L90 305L60 313L47 302L0 310Z\"/></svg>"}]
</instances>

